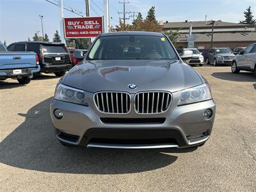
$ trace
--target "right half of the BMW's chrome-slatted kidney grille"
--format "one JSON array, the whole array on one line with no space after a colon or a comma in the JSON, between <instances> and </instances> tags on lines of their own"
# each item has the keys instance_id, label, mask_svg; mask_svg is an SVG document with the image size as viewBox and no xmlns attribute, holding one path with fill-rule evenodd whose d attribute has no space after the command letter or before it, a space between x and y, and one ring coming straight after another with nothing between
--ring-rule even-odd
<instances>
[{"instance_id":1,"label":"right half of the BMW's chrome-slatted kidney grille","mask_svg":"<svg viewBox=\"0 0 256 192\"><path fill-rule=\"evenodd\" d=\"M134 97L136 113L163 113L170 108L172 95L169 92L141 92Z\"/></svg>"}]
</instances>

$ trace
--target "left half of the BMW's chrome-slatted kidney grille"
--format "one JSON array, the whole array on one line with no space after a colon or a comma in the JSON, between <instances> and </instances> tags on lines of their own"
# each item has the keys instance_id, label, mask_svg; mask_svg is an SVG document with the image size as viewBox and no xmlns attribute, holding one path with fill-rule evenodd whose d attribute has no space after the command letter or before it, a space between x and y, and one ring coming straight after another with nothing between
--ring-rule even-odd
<instances>
[{"instance_id":1,"label":"left half of the BMW's chrome-slatted kidney grille","mask_svg":"<svg viewBox=\"0 0 256 192\"><path fill-rule=\"evenodd\" d=\"M131 95L124 92L98 92L94 95L96 108L102 113L129 113Z\"/></svg>"}]
</instances>

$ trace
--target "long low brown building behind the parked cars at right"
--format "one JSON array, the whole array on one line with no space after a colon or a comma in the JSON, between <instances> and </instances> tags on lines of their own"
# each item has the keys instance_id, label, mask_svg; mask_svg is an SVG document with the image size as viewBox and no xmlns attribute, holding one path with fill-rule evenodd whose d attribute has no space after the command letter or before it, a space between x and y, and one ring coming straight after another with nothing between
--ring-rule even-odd
<instances>
[{"instance_id":1,"label":"long low brown building behind the parked cars at right","mask_svg":"<svg viewBox=\"0 0 256 192\"><path fill-rule=\"evenodd\" d=\"M180 37L177 48L188 47L189 30L195 37L195 47L198 49L211 48L212 20L162 22L164 31L179 31ZM213 24L212 47L246 47L256 42L255 27L248 24L237 24L216 20Z\"/></svg>"}]
</instances>

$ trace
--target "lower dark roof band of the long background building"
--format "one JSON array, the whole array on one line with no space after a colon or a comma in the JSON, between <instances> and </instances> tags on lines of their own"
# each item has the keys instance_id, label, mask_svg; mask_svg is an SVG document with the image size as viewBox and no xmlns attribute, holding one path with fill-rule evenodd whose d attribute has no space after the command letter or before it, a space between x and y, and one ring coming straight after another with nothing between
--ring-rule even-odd
<instances>
[{"instance_id":1,"label":"lower dark roof band of the long background building","mask_svg":"<svg viewBox=\"0 0 256 192\"><path fill-rule=\"evenodd\" d=\"M178 42L187 42L187 36L182 34ZM214 33L214 42L256 42L256 33ZM211 42L211 33L198 34L195 42Z\"/></svg>"}]
</instances>

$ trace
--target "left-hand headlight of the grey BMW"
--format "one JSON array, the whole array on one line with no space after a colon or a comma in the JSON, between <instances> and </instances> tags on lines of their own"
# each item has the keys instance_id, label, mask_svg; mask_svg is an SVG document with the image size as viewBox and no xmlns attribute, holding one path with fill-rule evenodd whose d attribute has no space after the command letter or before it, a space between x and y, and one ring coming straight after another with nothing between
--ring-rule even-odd
<instances>
[{"instance_id":1,"label":"left-hand headlight of the grey BMW","mask_svg":"<svg viewBox=\"0 0 256 192\"><path fill-rule=\"evenodd\" d=\"M56 87L54 99L88 106L86 95L83 90L78 90L61 83Z\"/></svg>"}]
</instances>

